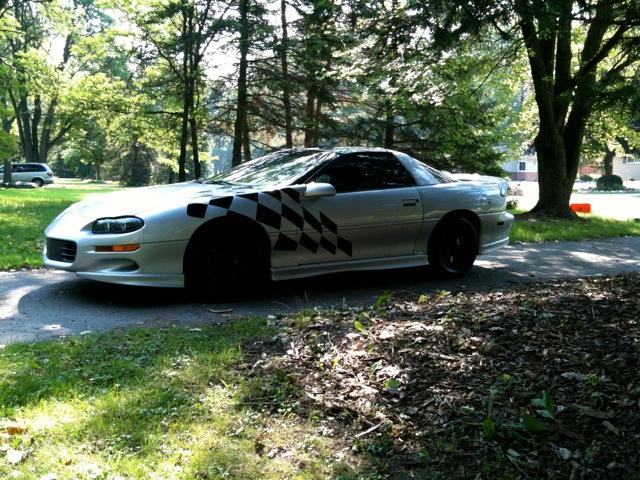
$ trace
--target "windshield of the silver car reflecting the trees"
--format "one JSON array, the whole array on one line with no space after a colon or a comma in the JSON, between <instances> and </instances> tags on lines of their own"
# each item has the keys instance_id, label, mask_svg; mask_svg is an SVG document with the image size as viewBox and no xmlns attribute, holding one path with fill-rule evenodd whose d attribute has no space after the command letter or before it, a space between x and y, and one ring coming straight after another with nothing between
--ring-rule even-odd
<instances>
[{"instance_id":1,"label":"windshield of the silver car reflecting the trees","mask_svg":"<svg viewBox=\"0 0 640 480\"><path fill-rule=\"evenodd\" d=\"M267 187L289 184L320 165L330 152L322 150L281 150L207 179L207 183L230 183Z\"/></svg>"}]
</instances>

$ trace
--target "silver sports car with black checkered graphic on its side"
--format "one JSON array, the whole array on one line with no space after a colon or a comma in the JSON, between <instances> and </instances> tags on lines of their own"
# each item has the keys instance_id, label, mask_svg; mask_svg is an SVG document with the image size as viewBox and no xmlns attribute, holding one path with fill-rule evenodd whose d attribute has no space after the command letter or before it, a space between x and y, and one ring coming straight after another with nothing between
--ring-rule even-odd
<instances>
[{"instance_id":1,"label":"silver sports car with black checkered graphic on its side","mask_svg":"<svg viewBox=\"0 0 640 480\"><path fill-rule=\"evenodd\" d=\"M209 179L78 202L46 229L46 266L233 296L262 281L429 264L460 276L506 245L507 183L377 148L282 150Z\"/></svg>"}]
</instances>

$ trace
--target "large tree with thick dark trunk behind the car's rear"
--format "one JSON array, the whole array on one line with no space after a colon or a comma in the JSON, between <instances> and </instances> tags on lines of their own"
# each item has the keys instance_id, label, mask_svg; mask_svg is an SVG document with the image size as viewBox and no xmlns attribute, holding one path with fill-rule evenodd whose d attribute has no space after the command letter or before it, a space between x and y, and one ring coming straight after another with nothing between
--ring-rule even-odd
<instances>
[{"instance_id":1,"label":"large tree with thick dark trunk behind the car's rear","mask_svg":"<svg viewBox=\"0 0 640 480\"><path fill-rule=\"evenodd\" d=\"M449 49L490 30L522 42L539 118L534 144L540 197L532 212L575 217L569 198L587 122L603 92L624 85L640 58L638 2L431 0L419 7L419 23L437 47ZM610 68L601 68L605 61Z\"/></svg>"}]
</instances>

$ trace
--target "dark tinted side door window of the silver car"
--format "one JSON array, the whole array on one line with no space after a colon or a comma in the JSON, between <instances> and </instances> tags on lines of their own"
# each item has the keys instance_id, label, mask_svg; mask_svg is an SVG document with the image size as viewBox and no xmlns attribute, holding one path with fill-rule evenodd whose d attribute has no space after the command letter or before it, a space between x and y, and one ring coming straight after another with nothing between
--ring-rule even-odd
<instances>
[{"instance_id":1,"label":"dark tinted side door window of the silver car","mask_svg":"<svg viewBox=\"0 0 640 480\"><path fill-rule=\"evenodd\" d=\"M415 184L390 153L353 153L323 167L312 181L330 183L336 192L358 192L408 187Z\"/></svg>"}]
</instances>

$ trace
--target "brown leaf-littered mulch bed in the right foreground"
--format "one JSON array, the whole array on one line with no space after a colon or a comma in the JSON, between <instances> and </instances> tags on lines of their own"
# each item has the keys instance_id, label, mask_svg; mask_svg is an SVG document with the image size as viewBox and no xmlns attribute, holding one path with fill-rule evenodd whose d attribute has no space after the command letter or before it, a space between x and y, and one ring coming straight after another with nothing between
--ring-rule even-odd
<instances>
[{"instance_id":1,"label":"brown leaf-littered mulch bed in the right foreground","mask_svg":"<svg viewBox=\"0 0 640 480\"><path fill-rule=\"evenodd\" d=\"M376 303L281 319L254 368L367 478L640 478L639 274Z\"/></svg>"}]
</instances>

